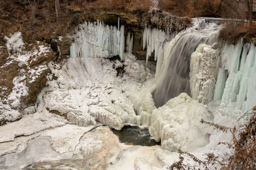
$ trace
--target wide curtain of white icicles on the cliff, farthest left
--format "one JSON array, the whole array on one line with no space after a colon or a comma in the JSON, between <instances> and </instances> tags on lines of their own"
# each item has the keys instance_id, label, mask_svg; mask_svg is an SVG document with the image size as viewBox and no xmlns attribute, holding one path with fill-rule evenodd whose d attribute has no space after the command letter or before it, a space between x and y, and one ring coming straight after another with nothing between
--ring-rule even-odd
<instances>
[{"instance_id":1,"label":"wide curtain of white icicles on the cliff, farthest left","mask_svg":"<svg viewBox=\"0 0 256 170\"><path fill-rule=\"evenodd\" d=\"M97 57L110 58L119 55L125 60L125 27L119 30L116 26L108 26L104 23L84 22L76 30L75 42L70 47L70 57Z\"/></svg>"}]
</instances>

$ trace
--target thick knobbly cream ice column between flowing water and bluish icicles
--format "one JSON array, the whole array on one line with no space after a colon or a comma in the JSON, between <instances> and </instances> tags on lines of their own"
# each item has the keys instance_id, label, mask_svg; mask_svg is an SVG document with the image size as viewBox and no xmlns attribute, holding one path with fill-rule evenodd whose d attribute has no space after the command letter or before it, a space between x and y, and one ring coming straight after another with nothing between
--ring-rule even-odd
<instances>
[{"instance_id":1,"label":"thick knobbly cream ice column between flowing water and bluish icicles","mask_svg":"<svg viewBox=\"0 0 256 170\"><path fill-rule=\"evenodd\" d=\"M200 44L192 53L189 73L192 99L204 104L212 101L218 75L219 53L219 50L206 44Z\"/></svg>"}]
</instances>

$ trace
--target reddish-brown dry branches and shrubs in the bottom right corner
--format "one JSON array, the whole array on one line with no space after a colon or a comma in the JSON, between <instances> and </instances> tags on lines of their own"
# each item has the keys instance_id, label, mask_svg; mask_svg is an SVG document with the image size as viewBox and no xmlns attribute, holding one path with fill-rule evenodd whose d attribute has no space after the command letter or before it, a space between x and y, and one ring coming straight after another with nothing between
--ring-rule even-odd
<instances>
[{"instance_id":1,"label":"reddish-brown dry branches and shrubs in the bottom right corner","mask_svg":"<svg viewBox=\"0 0 256 170\"><path fill-rule=\"evenodd\" d=\"M219 142L219 144L226 144L233 150L233 154L229 159L219 161L218 156L212 153L207 154L207 161L202 161L194 155L178 150L180 153L179 161L168 167L169 170L189 170L195 169L189 164L183 163L183 156L191 158L205 170L210 170L209 167L219 170L255 170L256 169L256 106L252 110L247 111L239 121L243 122L238 128L225 127L211 122L205 122L203 119L201 123L213 126L224 133L227 130L233 135L231 143Z\"/></svg>"}]
</instances>

